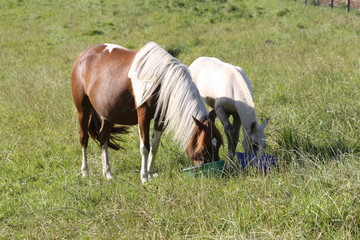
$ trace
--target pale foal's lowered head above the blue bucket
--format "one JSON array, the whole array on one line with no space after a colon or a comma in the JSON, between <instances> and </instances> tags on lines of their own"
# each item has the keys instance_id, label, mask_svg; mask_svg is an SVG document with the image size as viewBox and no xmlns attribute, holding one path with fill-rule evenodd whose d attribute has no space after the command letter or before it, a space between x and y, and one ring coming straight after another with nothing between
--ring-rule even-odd
<instances>
[{"instance_id":1,"label":"pale foal's lowered head above the blue bucket","mask_svg":"<svg viewBox=\"0 0 360 240\"><path fill-rule=\"evenodd\" d=\"M269 119L266 118L260 125L257 122L253 122L250 127L250 132L244 131L244 140L242 142L245 153L255 153L260 156L263 155L266 147L266 139L264 129Z\"/></svg>"}]
</instances>

